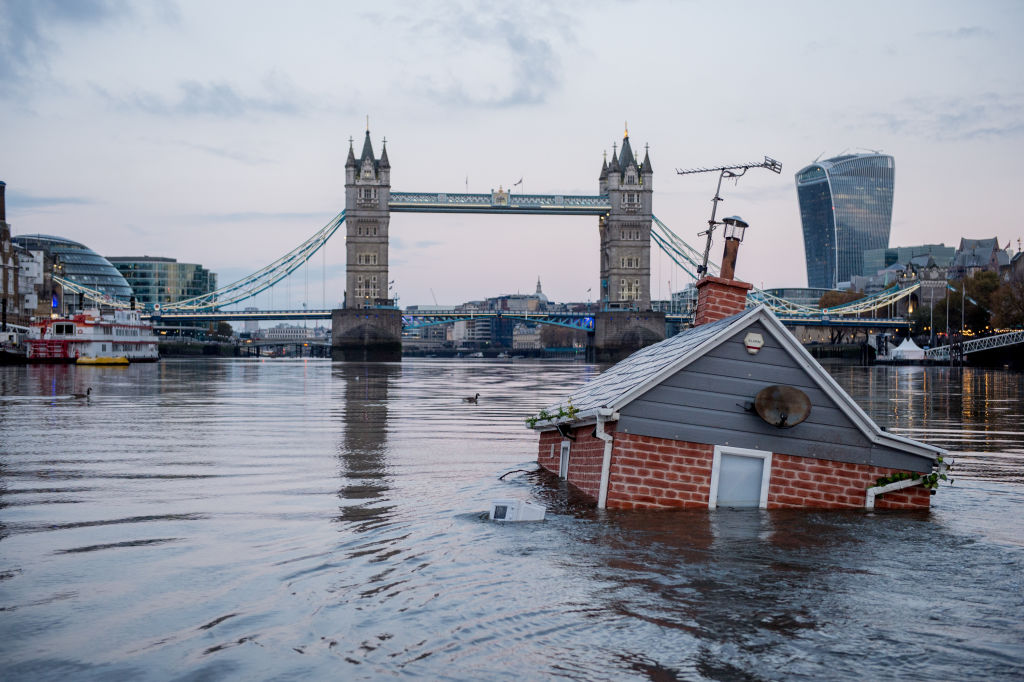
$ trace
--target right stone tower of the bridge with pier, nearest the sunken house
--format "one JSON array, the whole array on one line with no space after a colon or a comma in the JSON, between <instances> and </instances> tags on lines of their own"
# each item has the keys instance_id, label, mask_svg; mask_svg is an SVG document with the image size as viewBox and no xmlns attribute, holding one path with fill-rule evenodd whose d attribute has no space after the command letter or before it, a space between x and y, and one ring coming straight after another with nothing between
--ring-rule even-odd
<instances>
[{"instance_id":1,"label":"right stone tower of the bridge with pier, nearest the sunken house","mask_svg":"<svg viewBox=\"0 0 1024 682\"><path fill-rule=\"evenodd\" d=\"M601 165L600 194L610 210L599 218L601 310L595 315L594 358L621 359L665 338L665 313L651 311L650 228L654 171L648 151L638 162L629 128L611 163Z\"/></svg>"}]
</instances>

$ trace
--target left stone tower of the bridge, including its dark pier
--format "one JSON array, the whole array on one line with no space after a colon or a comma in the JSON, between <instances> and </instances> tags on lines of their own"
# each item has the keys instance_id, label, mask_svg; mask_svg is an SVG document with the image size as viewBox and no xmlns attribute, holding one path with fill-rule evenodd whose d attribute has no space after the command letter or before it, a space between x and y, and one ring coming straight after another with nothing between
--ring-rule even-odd
<instances>
[{"instance_id":1,"label":"left stone tower of the bridge, including its dark pier","mask_svg":"<svg viewBox=\"0 0 1024 682\"><path fill-rule=\"evenodd\" d=\"M331 314L331 354L345 360L401 359L401 311L388 297L391 164L387 140L374 157L370 127L362 153L345 161L345 303Z\"/></svg>"}]
</instances>

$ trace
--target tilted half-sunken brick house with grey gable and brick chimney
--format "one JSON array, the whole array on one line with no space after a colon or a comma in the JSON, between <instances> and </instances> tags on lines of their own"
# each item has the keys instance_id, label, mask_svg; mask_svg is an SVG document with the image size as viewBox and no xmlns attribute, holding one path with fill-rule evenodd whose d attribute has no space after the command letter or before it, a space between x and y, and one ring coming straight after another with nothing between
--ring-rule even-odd
<instances>
[{"instance_id":1,"label":"tilted half-sunken brick house with grey gable and brick chimney","mask_svg":"<svg viewBox=\"0 0 1024 682\"><path fill-rule=\"evenodd\" d=\"M527 420L541 466L601 508L929 507L943 450L879 428L751 285L697 288L693 328Z\"/></svg>"}]
</instances>

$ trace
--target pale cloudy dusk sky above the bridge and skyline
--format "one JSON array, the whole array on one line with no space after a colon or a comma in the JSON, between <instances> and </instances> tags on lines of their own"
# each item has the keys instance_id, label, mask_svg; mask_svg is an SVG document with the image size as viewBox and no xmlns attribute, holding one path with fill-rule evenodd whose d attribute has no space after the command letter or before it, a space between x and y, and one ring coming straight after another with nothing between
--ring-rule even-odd
<instances>
[{"instance_id":1,"label":"pale cloudy dusk sky above the bridge and skyline","mask_svg":"<svg viewBox=\"0 0 1024 682\"><path fill-rule=\"evenodd\" d=\"M0 180L14 235L201 263L226 285L344 208L349 138L395 191L598 193L629 126L691 245L714 174L738 279L806 286L794 175L881 151L891 246L1024 238L1024 3L0 0ZM402 306L598 290L593 217L394 214ZM335 306L340 232L260 307ZM721 254L721 242L712 249ZM651 294L691 279L652 249Z\"/></svg>"}]
</instances>

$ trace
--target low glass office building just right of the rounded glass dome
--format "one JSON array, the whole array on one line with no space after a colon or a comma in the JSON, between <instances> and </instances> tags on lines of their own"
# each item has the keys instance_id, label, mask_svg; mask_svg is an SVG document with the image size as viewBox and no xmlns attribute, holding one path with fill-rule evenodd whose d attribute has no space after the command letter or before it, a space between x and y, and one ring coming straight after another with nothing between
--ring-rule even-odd
<instances>
[{"instance_id":1,"label":"low glass office building just right of the rounded glass dome","mask_svg":"<svg viewBox=\"0 0 1024 682\"><path fill-rule=\"evenodd\" d=\"M131 285L138 304L148 309L156 303L181 301L217 289L217 275L196 263L155 256L112 256L109 260Z\"/></svg>"}]
</instances>

